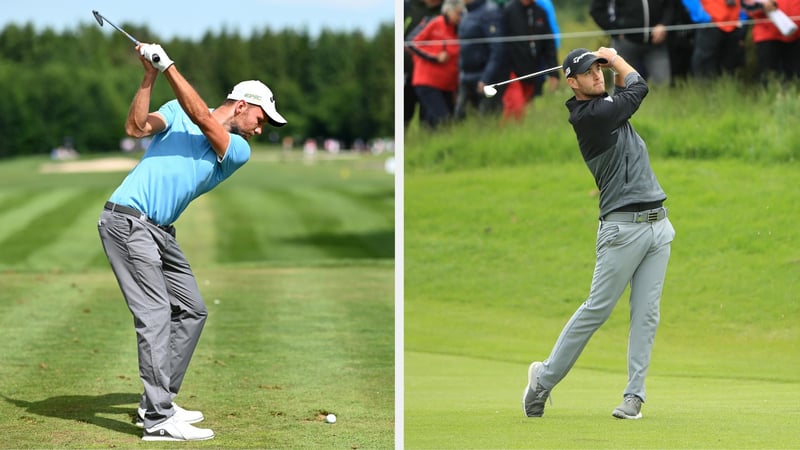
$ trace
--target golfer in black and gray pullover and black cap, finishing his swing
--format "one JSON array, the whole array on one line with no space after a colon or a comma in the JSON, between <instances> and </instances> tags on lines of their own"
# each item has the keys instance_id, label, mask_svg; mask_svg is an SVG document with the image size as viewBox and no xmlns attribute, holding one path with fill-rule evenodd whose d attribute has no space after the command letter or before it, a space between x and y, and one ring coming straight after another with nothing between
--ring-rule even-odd
<instances>
[{"instance_id":1,"label":"golfer in black and gray pullover and black cap, finishing his swing","mask_svg":"<svg viewBox=\"0 0 800 450\"><path fill-rule=\"evenodd\" d=\"M606 92L604 68L614 72L613 95ZM639 419L675 237L663 207L667 196L650 166L647 146L629 122L648 88L644 78L611 48L573 50L563 69L575 94L566 102L569 121L600 190L597 260L589 298L564 326L550 356L528 367L522 406L526 416L542 416L551 390L567 375L630 284L628 381L622 403L612 415Z\"/></svg>"}]
</instances>

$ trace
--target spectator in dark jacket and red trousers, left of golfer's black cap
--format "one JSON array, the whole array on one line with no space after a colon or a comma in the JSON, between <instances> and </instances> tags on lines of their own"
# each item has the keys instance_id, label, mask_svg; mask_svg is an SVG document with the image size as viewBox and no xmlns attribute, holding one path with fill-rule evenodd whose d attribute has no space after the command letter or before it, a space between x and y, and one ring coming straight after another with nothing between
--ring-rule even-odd
<instances>
[{"instance_id":1,"label":"spectator in dark jacket and red trousers, left of golfer's black cap","mask_svg":"<svg viewBox=\"0 0 800 450\"><path fill-rule=\"evenodd\" d=\"M530 40L506 42L509 78L558 66L555 39L536 37L554 34L549 15L540 5L545 1L548 0L511 0L503 10L506 36L531 36ZM551 92L558 87L558 72L509 84L503 95L503 117L521 120L528 101L541 95L545 79Z\"/></svg>"}]
</instances>

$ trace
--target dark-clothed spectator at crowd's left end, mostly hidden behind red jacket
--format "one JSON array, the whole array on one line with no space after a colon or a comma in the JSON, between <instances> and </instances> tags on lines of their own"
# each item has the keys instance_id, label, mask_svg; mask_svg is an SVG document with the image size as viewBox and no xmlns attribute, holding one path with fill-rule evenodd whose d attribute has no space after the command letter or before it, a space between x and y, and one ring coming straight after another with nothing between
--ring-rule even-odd
<instances>
[{"instance_id":1,"label":"dark-clothed spectator at crowd's left end, mostly hidden behind red jacket","mask_svg":"<svg viewBox=\"0 0 800 450\"><path fill-rule=\"evenodd\" d=\"M432 17L436 17L442 10L442 0L405 0L403 2L404 40L410 41L414 34L422 29L425 22ZM403 52L403 119L405 125L411 123L417 109L417 93L411 84L411 76L414 74L414 59L411 52ZM420 116L422 115L420 111Z\"/></svg>"}]
</instances>

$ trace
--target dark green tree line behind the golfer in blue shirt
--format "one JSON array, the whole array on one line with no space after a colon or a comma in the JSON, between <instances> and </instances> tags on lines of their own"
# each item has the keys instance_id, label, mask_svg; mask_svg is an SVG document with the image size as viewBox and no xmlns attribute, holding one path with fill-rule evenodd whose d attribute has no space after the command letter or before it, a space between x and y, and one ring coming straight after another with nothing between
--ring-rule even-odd
<instances>
[{"instance_id":1,"label":"dark green tree line behind the golfer in blue shirt","mask_svg":"<svg viewBox=\"0 0 800 450\"><path fill-rule=\"evenodd\" d=\"M167 41L146 26L121 26L142 42L160 43L209 107L239 81L266 83L289 123L258 141L334 138L349 145L394 133L391 23L371 37L266 28L247 38L223 29ZM142 73L130 41L116 32L7 25L0 30L0 157L48 153L65 137L79 151L118 149ZM151 110L172 98L160 77Z\"/></svg>"}]
</instances>

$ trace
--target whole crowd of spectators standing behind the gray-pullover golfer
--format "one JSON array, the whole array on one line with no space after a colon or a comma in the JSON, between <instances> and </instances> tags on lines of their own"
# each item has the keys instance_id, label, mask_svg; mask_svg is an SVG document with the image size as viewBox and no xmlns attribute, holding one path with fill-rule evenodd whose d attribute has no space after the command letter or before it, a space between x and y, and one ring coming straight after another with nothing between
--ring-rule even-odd
<instances>
[{"instance_id":1,"label":"whole crowd of spectators standing behind the gray-pullover golfer","mask_svg":"<svg viewBox=\"0 0 800 450\"><path fill-rule=\"evenodd\" d=\"M434 129L469 114L520 120L559 72L552 0L405 0L404 114ZM800 0L590 0L586 14L650 84L735 76L752 40L758 77L800 78Z\"/></svg>"}]
</instances>

